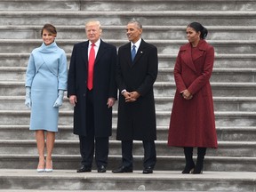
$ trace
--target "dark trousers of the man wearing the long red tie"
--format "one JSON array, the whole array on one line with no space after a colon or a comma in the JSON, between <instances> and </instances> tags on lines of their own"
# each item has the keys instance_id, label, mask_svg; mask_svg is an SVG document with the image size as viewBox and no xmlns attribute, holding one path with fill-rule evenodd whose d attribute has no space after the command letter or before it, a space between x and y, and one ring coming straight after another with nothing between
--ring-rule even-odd
<instances>
[{"instance_id":1,"label":"dark trousers of the man wearing the long red tie","mask_svg":"<svg viewBox=\"0 0 256 192\"><path fill-rule=\"evenodd\" d=\"M87 90L86 99L86 137L79 136L80 154L82 165L92 167L93 155L95 150L95 162L98 167L108 165L108 137L95 137L94 134L94 110L93 110L93 91Z\"/></svg>"}]
</instances>

